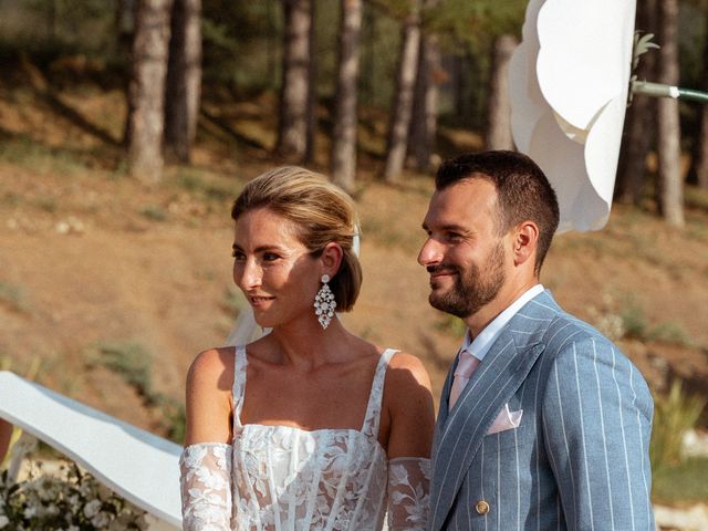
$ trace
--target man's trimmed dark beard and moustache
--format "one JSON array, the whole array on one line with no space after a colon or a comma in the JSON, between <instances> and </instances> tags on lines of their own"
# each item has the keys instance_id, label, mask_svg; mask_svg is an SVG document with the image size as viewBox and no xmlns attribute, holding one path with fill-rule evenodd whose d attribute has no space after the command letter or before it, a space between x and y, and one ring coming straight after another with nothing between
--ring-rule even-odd
<instances>
[{"instance_id":1,"label":"man's trimmed dark beard and moustache","mask_svg":"<svg viewBox=\"0 0 708 531\"><path fill-rule=\"evenodd\" d=\"M470 264L467 271L458 266L445 264L429 267L428 272L449 271L457 273L455 284L446 292L430 293L428 301L433 308L466 319L494 300L507 277L503 270L504 250L501 242L489 252L483 270Z\"/></svg>"}]
</instances>

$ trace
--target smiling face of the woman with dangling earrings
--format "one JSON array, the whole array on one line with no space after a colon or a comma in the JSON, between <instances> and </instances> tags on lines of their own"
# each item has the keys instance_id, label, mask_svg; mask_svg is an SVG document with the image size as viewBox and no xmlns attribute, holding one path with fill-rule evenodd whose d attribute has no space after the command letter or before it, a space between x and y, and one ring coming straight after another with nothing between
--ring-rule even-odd
<instances>
[{"instance_id":1,"label":"smiling face of the woman with dangling earrings","mask_svg":"<svg viewBox=\"0 0 708 531\"><path fill-rule=\"evenodd\" d=\"M268 208L239 217L233 232L233 282L259 325L315 319L312 303L321 275L320 261L296 238L291 221Z\"/></svg>"}]
</instances>

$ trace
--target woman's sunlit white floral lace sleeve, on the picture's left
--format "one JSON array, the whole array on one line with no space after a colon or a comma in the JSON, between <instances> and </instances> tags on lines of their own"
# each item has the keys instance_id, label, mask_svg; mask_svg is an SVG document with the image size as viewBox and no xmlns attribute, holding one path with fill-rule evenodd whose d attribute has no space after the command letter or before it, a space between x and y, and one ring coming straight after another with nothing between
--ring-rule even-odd
<instances>
[{"instance_id":1,"label":"woman's sunlit white floral lace sleeve, on the picture's left","mask_svg":"<svg viewBox=\"0 0 708 531\"><path fill-rule=\"evenodd\" d=\"M231 445L199 442L179 457L185 531L231 529Z\"/></svg>"}]
</instances>

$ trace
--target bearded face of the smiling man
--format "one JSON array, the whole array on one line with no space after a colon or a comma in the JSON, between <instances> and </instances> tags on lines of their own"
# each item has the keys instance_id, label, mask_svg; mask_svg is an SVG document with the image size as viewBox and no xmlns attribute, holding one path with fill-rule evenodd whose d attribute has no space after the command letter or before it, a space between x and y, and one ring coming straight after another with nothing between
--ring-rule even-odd
<instances>
[{"instance_id":1,"label":"bearded face of the smiling man","mask_svg":"<svg viewBox=\"0 0 708 531\"><path fill-rule=\"evenodd\" d=\"M466 179L435 192L418 254L430 273L430 305L466 319L494 300L507 278L499 223L489 180Z\"/></svg>"}]
</instances>

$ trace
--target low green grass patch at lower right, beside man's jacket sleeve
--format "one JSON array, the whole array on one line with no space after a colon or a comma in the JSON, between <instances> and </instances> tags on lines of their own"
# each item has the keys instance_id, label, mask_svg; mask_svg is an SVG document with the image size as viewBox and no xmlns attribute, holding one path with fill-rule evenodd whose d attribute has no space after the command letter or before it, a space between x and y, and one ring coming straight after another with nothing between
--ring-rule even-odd
<instances>
[{"instance_id":1,"label":"low green grass patch at lower right, beside man's jacket sleeve","mask_svg":"<svg viewBox=\"0 0 708 531\"><path fill-rule=\"evenodd\" d=\"M708 502L708 458L695 457L681 465L654 471L652 500L663 504Z\"/></svg>"}]
</instances>

